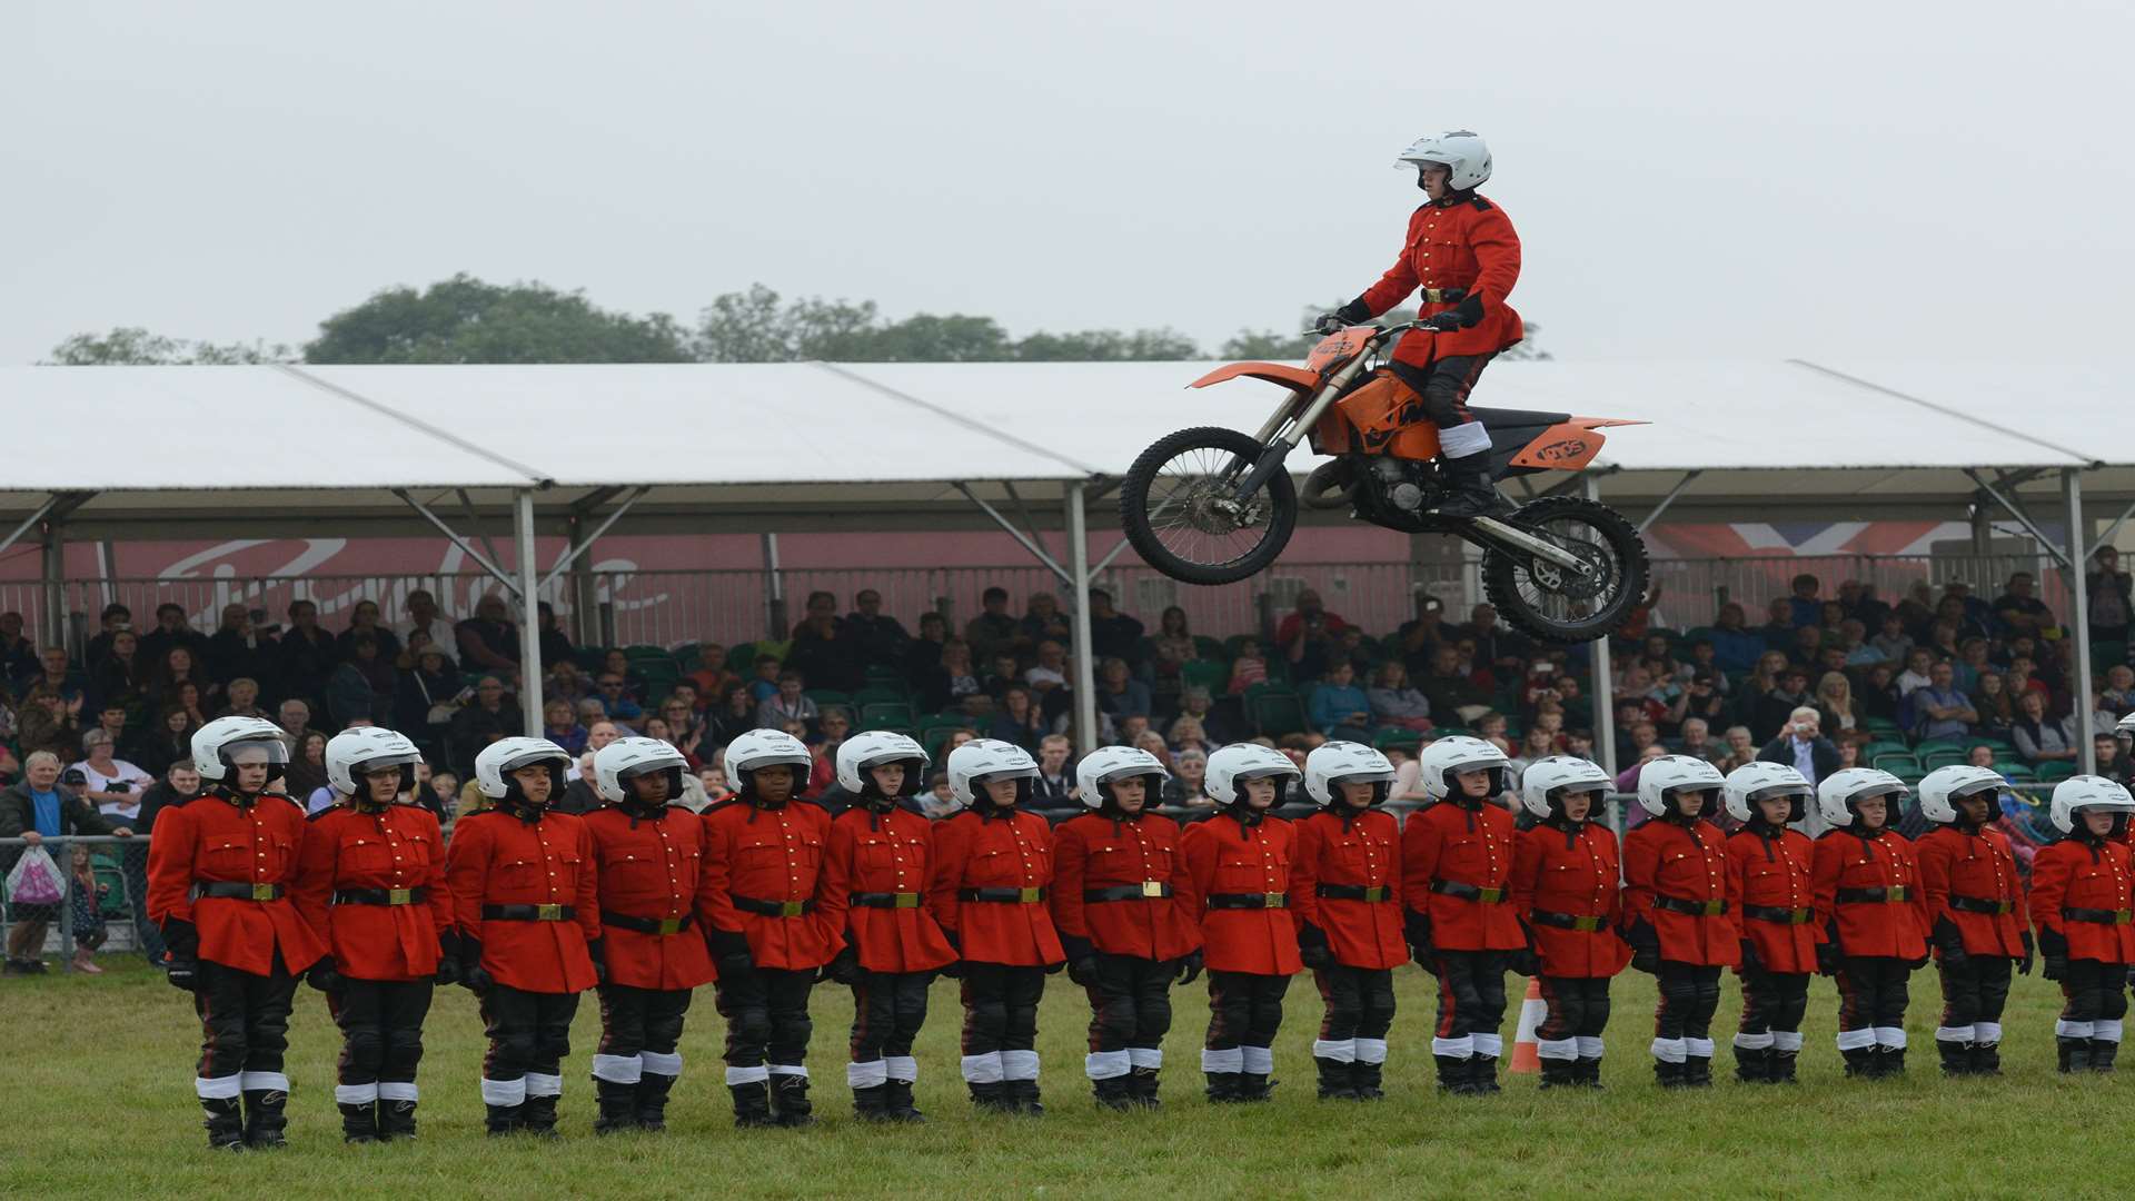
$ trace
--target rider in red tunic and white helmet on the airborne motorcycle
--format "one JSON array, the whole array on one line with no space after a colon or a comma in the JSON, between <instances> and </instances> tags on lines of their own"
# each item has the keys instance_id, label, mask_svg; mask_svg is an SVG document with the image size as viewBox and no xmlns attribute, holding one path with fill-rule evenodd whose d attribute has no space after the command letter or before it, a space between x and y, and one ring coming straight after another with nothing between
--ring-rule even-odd
<instances>
[{"instance_id":1,"label":"rider in red tunic and white helmet on the airborne motorcycle","mask_svg":"<svg viewBox=\"0 0 2135 1201\"><path fill-rule=\"evenodd\" d=\"M1520 235L1505 209L1475 194L1490 180L1490 147L1467 130L1416 139L1396 167L1416 167L1426 203L1409 216L1401 256L1377 284L1319 318L1319 331L1360 325L1422 288L1422 325L1394 346L1392 372L1405 387L1351 393L1343 410L1369 449L1403 425L1430 419L1439 427L1439 466L1452 494L1439 517L1503 517L1512 504L1490 483L1490 432L1467 408L1484 365L1524 336L1520 314L1505 303L1520 278Z\"/></svg>"}]
</instances>

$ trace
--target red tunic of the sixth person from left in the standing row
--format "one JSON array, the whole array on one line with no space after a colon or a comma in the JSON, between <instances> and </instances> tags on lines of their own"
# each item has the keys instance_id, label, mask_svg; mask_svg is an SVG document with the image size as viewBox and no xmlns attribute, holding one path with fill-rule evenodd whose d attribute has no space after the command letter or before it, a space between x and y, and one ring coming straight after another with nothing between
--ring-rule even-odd
<instances>
[{"instance_id":1,"label":"red tunic of the sixth person from left in the standing row","mask_svg":"<svg viewBox=\"0 0 2135 1201\"><path fill-rule=\"evenodd\" d=\"M822 893L833 910L845 913L845 945L869 972L931 972L956 962L927 906L931 861L933 823L914 812L873 814L854 806L831 821ZM852 904L852 893L888 893L899 904Z\"/></svg>"}]
</instances>

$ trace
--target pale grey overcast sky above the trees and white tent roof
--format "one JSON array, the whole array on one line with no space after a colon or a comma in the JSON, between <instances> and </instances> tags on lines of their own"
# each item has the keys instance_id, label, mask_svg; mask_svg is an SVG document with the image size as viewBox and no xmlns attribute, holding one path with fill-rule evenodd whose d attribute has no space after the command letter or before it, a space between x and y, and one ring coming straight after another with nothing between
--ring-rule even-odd
<instances>
[{"instance_id":1,"label":"pale grey overcast sky above the trees and white tent roof","mask_svg":"<svg viewBox=\"0 0 2135 1201\"><path fill-rule=\"evenodd\" d=\"M1373 282L1458 126L1559 357L2124 353L2131 47L2126 0L9 0L0 361L453 271L1213 346Z\"/></svg>"}]
</instances>

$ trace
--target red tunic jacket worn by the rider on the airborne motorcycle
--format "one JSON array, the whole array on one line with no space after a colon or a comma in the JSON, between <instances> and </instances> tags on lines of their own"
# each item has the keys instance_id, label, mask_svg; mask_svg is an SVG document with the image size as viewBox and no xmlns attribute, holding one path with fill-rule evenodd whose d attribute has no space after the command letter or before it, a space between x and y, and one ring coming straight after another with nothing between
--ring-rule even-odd
<instances>
[{"instance_id":1,"label":"red tunic jacket worn by the rider on the airborne motorcycle","mask_svg":"<svg viewBox=\"0 0 2135 1201\"><path fill-rule=\"evenodd\" d=\"M1527 336L1520 314L1505 303L1520 278L1520 235L1494 203L1471 197L1450 205L1428 203L1409 216L1401 256L1377 284L1358 297L1373 316L1409 299L1416 288L1467 288L1482 297L1482 325L1454 333L1409 333L1394 359L1424 365L1433 357L1497 355ZM1422 316L1456 306L1424 303Z\"/></svg>"}]
</instances>

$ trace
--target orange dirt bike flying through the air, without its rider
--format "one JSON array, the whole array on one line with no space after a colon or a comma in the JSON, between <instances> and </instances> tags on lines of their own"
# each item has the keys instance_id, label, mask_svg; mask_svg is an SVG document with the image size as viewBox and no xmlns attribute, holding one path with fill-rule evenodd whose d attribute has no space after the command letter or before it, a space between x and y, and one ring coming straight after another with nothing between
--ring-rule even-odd
<instances>
[{"instance_id":1,"label":"orange dirt bike flying through the air, without its rider","mask_svg":"<svg viewBox=\"0 0 2135 1201\"><path fill-rule=\"evenodd\" d=\"M1119 489L1129 545L1172 579L1236 583L1275 562L1298 521L1298 487L1283 459L1311 436L1334 455L1304 481L1311 509L1401 532L1454 534L1482 547L1482 581L1518 630L1550 641L1608 635L1646 592L1646 545L1614 509L1578 496L1544 496L1507 517L1437 517L1448 496L1430 421L1403 423L1369 444L1343 402L1383 402L1398 389L1377 363L1394 333L1430 336L1413 323L1351 325L1313 346L1302 368L1232 363L1191 387L1238 376L1287 389L1258 434L1217 425L1181 430L1142 451ZM1377 387L1377 393L1364 389ZM1362 395L1360 395L1362 393ZM1601 449L1601 427L1642 425L1610 417L1475 408L1490 432L1490 479L1582 470Z\"/></svg>"}]
</instances>

